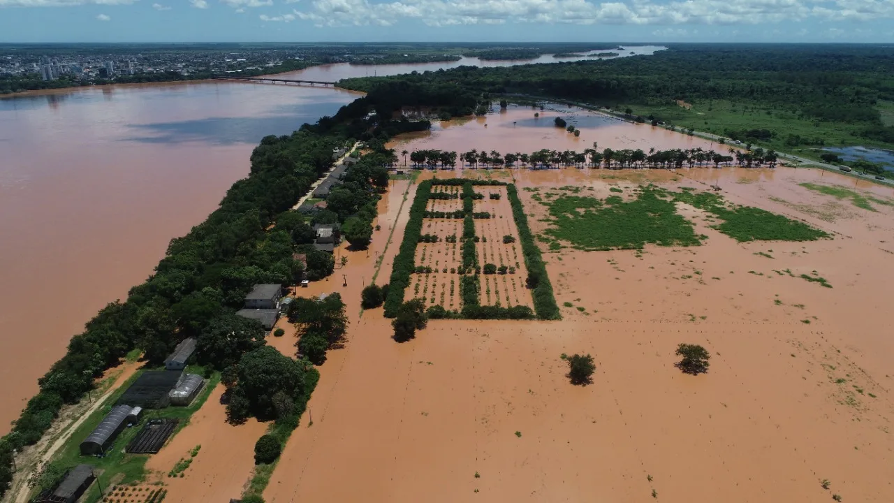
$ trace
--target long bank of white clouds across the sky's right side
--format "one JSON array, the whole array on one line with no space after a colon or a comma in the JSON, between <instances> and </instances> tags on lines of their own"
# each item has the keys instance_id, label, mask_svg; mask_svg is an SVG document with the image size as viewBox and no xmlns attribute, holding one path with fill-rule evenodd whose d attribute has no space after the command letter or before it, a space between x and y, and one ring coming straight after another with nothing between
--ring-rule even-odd
<instances>
[{"instance_id":1,"label":"long bank of white clouds across the sky's right side","mask_svg":"<svg viewBox=\"0 0 894 503\"><path fill-rule=\"evenodd\" d=\"M286 0L292 1L297 0ZM430 26L536 22L668 27L894 17L894 0L312 0L306 5L292 12L317 26L390 26L413 19Z\"/></svg>"}]
</instances>

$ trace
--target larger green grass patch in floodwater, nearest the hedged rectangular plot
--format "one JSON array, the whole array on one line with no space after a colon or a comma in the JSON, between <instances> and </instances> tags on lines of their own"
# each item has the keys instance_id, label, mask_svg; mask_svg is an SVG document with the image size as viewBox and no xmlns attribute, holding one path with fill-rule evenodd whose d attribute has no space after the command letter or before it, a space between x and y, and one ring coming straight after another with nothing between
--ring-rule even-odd
<instances>
[{"instance_id":1,"label":"larger green grass patch in floodwater, nearest the hedged rectangular plot","mask_svg":"<svg viewBox=\"0 0 894 503\"><path fill-rule=\"evenodd\" d=\"M637 199L629 201L619 196L605 200L560 196L545 203L553 225L545 234L581 250L635 250L645 243L701 244L692 224L677 214L666 191L648 185L636 192Z\"/></svg>"}]
</instances>

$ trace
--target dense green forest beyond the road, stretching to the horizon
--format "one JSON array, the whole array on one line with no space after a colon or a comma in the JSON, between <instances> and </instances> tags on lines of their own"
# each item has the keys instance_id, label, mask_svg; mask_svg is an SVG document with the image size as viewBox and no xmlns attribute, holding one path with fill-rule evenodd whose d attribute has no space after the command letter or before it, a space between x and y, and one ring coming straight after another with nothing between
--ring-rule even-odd
<instances>
[{"instance_id":1,"label":"dense green forest beyond the road, stretching to the horizon","mask_svg":"<svg viewBox=\"0 0 894 503\"><path fill-rule=\"evenodd\" d=\"M894 101L891 46L688 44L648 56L462 66L340 85L372 90L401 82L452 83L472 97L517 94L630 108L656 122L728 136L763 130L767 137L754 140L778 149L894 145L894 124L882 115Z\"/></svg>"}]
</instances>

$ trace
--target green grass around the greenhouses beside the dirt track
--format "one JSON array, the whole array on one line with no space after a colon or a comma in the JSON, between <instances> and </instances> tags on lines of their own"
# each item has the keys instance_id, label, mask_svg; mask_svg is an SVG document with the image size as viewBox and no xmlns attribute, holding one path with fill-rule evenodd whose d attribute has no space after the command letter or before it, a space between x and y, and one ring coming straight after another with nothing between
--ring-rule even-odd
<instances>
[{"instance_id":1,"label":"green grass around the greenhouses beside the dirt track","mask_svg":"<svg viewBox=\"0 0 894 503\"><path fill-rule=\"evenodd\" d=\"M108 488L112 484L139 482L143 480L146 474L146 461L148 460L149 455L131 455L124 452L125 446L127 446L131 439L133 439L142 429L141 425L133 428L125 428L124 431L118 435L118 438L115 439L113 448L109 449L109 453L105 457L80 455L80 442L87 438L90 432L97 427L99 422L102 422L105 414L109 413L115 401L122 396L124 391L139 377L139 374L141 374L142 371L145 370L138 371L131 376L131 379L128 379L121 388L116 389L114 393L109 396L105 401L105 404L97 409L96 413L90 415L86 421L80 424L80 427L72 434L71 439L69 439L63 448L59 450L55 459L53 459L52 463L54 465L63 468L70 468L82 463L93 465L96 468L99 483L103 488ZM205 369L198 365L190 365L190 367L187 368L187 372L203 375ZM220 382L220 372L214 372L211 375L211 378L207 379L205 388L202 389L198 396L196 396L196 399L193 400L192 404L187 407L170 406L162 410L148 410L143 415L142 422L154 418L179 419L180 424L178 424L177 430L173 432L173 435L176 435L178 431L181 431L187 424L189 424L190 416L205 404L205 401L208 396L211 395L212 390L217 386L218 382ZM99 489L97 484L90 486L84 499L81 499L84 503L92 503L98 500Z\"/></svg>"}]
</instances>

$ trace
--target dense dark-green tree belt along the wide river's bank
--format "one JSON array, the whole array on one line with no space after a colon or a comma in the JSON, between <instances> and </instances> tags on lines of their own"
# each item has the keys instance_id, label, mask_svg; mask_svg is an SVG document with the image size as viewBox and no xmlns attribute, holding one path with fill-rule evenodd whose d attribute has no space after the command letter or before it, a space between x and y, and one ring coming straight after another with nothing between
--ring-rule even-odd
<instances>
[{"instance_id":1,"label":"dense dark-green tree belt along the wide river's bank","mask_svg":"<svg viewBox=\"0 0 894 503\"><path fill-rule=\"evenodd\" d=\"M424 89L410 86L409 91L422 106L436 105L441 99ZM304 124L288 135L265 137L252 152L249 176L233 183L219 208L189 234L173 239L147 281L131 288L125 302L110 303L99 311L83 333L72 337L63 358L38 379L38 395L13 423L13 431L0 439L0 494L12 481L13 449L36 443L63 405L80 401L94 386L94 379L131 351L140 350L154 365L183 338L194 336L200 343L197 358L223 369L263 345L232 314L255 284L296 284L305 268L295 260L296 252L307 255L308 277L332 274L332 255L309 246L314 233L291 207L332 166L333 149L354 139L364 141L372 152L351 168L342 186L330 195L327 210L310 223L356 227L358 247L365 245L362 238L375 217L378 192L387 184L383 166L393 156L384 149L384 142L394 134L430 126L427 121L391 120L392 107L399 107L399 101L374 91L316 124ZM370 110L382 115L367 117ZM221 343L220 334L235 333L240 337ZM327 337L329 342L338 339L337 334ZM313 349L318 361L322 360L325 348ZM213 350L214 356L203 354L205 350ZM302 354L309 351L299 346ZM293 388L290 392L298 399L312 386ZM249 410L249 405L242 407L239 417Z\"/></svg>"}]
</instances>

